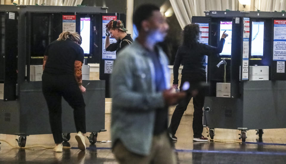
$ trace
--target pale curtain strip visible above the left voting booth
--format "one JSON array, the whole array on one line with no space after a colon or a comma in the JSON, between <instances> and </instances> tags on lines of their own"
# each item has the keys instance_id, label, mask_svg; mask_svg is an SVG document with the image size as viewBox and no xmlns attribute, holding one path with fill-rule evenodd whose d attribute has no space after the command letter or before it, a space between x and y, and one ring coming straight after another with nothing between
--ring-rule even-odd
<instances>
[{"instance_id":1,"label":"pale curtain strip visible above the left voting booth","mask_svg":"<svg viewBox=\"0 0 286 164\"><path fill-rule=\"evenodd\" d=\"M83 0L20 0L20 4L24 5L41 5L45 3L53 6L76 6L82 2Z\"/></svg>"}]
</instances>

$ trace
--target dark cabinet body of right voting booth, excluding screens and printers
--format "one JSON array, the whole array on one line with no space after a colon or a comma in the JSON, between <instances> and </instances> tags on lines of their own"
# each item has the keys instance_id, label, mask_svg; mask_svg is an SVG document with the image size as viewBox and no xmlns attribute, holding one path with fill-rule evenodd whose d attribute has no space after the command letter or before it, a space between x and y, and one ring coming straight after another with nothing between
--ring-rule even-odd
<instances>
[{"instance_id":1,"label":"dark cabinet body of right voting booth, excluding screens and printers","mask_svg":"<svg viewBox=\"0 0 286 164\"><path fill-rule=\"evenodd\" d=\"M192 17L192 23L209 24L209 45L217 46L220 36L220 21L232 22L231 56L219 54L208 58L208 93L204 104L203 125L209 127L209 136L214 138L215 128L238 129L240 139L245 141L249 129L257 129L262 137L263 129L286 128L286 73L276 72L273 60L274 20L286 20L281 12L205 11L205 17ZM269 66L269 80L243 79L244 18L249 20L249 66ZM263 56L251 55L251 24L264 22ZM224 82L224 68L217 64L226 60L226 82L231 83L230 97L216 96L216 83ZM249 76L249 75L248 75Z\"/></svg>"}]
</instances>

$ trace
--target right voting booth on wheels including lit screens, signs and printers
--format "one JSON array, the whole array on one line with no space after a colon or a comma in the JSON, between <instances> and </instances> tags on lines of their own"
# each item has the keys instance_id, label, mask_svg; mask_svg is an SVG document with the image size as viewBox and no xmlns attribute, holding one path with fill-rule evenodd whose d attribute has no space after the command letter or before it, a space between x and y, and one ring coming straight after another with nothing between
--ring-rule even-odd
<instances>
[{"instance_id":1,"label":"right voting booth on wheels including lit screens, signs and printers","mask_svg":"<svg viewBox=\"0 0 286 164\"><path fill-rule=\"evenodd\" d=\"M207 59L207 93L203 123L210 128L249 129L286 126L286 13L205 11L192 17L200 25L201 42L217 46L224 31L222 53Z\"/></svg>"}]
</instances>

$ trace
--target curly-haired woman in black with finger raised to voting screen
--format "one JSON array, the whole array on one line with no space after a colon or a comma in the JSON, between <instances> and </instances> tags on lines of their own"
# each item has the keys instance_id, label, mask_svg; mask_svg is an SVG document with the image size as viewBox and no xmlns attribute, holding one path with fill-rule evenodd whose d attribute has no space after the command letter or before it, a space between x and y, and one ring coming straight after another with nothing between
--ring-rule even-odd
<instances>
[{"instance_id":1,"label":"curly-haired woman in black with finger raised to voting screen","mask_svg":"<svg viewBox=\"0 0 286 164\"><path fill-rule=\"evenodd\" d=\"M206 55L219 54L223 50L223 45L227 34L224 32L218 47L199 43L200 27L198 24L188 24L183 30L183 43L178 48L173 68L173 87L178 89L178 71L180 64L183 65L180 90L184 82L190 83L190 95L181 101L175 108L169 126L169 133L172 140L177 140L175 133L180 124L181 118L193 97L194 118L193 118L193 141L208 141L203 137L203 105L205 100L204 89L200 87L202 82L206 82Z\"/></svg>"}]
</instances>

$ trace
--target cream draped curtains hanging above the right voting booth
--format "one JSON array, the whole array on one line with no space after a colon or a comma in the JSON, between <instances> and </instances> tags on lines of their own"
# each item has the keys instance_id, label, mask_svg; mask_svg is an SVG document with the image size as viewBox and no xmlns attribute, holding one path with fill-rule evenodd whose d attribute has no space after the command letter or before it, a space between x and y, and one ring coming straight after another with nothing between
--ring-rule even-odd
<instances>
[{"instance_id":1,"label":"cream draped curtains hanging above the right voting booth","mask_svg":"<svg viewBox=\"0 0 286 164\"><path fill-rule=\"evenodd\" d=\"M286 0L251 0L254 11L286 10ZM178 22L183 29L191 23L192 16L204 16L203 11L238 10L238 0L170 0ZM256 9L257 8L257 9Z\"/></svg>"}]
</instances>

